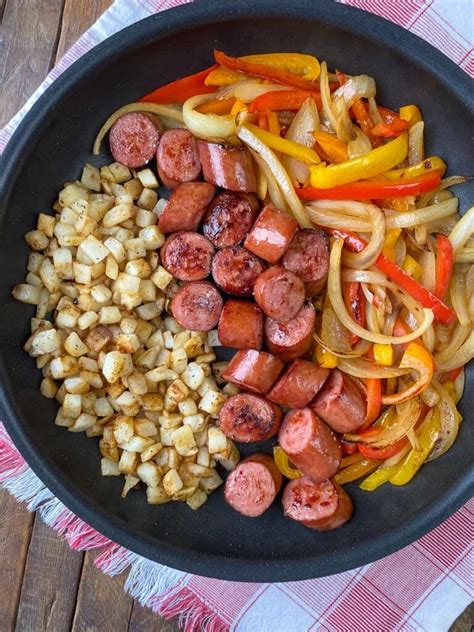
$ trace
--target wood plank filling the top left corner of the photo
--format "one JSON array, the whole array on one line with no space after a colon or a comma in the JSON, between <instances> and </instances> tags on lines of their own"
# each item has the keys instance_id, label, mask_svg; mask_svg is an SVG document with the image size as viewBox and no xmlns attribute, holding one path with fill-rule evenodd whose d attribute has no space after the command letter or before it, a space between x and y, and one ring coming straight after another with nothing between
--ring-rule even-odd
<instances>
[{"instance_id":1,"label":"wood plank filling the top left corner of the photo","mask_svg":"<svg viewBox=\"0 0 474 632\"><path fill-rule=\"evenodd\" d=\"M6 0L0 26L0 126L44 79L56 53L64 0Z\"/></svg>"}]
</instances>

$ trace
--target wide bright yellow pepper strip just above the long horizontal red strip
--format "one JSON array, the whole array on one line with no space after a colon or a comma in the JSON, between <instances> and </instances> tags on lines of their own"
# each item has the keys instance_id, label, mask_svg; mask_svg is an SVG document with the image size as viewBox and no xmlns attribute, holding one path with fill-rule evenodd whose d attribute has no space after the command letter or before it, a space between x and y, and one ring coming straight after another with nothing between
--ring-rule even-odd
<instances>
[{"instance_id":1,"label":"wide bright yellow pepper strip just above the long horizontal red strip","mask_svg":"<svg viewBox=\"0 0 474 632\"><path fill-rule=\"evenodd\" d=\"M366 180L393 169L408 154L408 134L403 132L386 145L372 149L363 156L328 167L310 167L311 186L330 189L356 180Z\"/></svg>"}]
</instances>

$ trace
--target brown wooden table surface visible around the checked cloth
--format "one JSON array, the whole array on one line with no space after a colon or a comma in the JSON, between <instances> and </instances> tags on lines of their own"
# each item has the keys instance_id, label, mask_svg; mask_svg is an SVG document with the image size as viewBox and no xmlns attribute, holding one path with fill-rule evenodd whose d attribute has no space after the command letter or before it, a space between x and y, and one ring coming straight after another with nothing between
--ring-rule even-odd
<instances>
[{"instance_id":1,"label":"brown wooden table surface visible around the checked cloth","mask_svg":"<svg viewBox=\"0 0 474 632\"><path fill-rule=\"evenodd\" d=\"M112 0L0 0L0 127ZM0 490L0 632L176 632ZM468 632L472 610L454 624ZM255 631L260 632L260 631Z\"/></svg>"}]
</instances>

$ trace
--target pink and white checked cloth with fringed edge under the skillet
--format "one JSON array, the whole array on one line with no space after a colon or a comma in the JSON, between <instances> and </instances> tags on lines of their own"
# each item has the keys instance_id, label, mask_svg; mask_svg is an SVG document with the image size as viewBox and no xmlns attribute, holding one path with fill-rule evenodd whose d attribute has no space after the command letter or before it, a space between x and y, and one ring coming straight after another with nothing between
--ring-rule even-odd
<instances>
[{"instance_id":1,"label":"pink and white checked cloth with fringed edge under the skillet","mask_svg":"<svg viewBox=\"0 0 474 632\"><path fill-rule=\"evenodd\" d=\"M50 72L0 132L0 152L32 103L73 61L124 26L190 0L116 0ZM443 51L474 76L471 0L343 0L391 20ZM97 549L108 574L128 572L126 590L161 616L180 616L187 632L444 632L473 595L471 501L414 544L362 568L281 584L189 575L110 542L47 490L0 423L0 484L39 511L75 549Z\"/></svg>"}]
</instances>

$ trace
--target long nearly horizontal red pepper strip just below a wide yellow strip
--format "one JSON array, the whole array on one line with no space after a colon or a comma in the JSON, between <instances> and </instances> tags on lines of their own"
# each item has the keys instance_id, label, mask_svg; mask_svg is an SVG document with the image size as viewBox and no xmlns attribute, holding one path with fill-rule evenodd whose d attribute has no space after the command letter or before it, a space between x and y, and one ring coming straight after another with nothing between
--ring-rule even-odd
<instances>
[{"instance_id":1,"label":"long nearly horizontal red pepper strip just below a wide yellow strip","mask_svg":"<svg viewBox=\"0 0 474 632\"><path fill-rule=\"evenodd\" d=\"M434 169L406 180L362 180L332 189L304 187L296 189L296 193L303 200L383 200L433 191L438 187L440 180L441 171Z\"/></svg>"}]
</instances>

